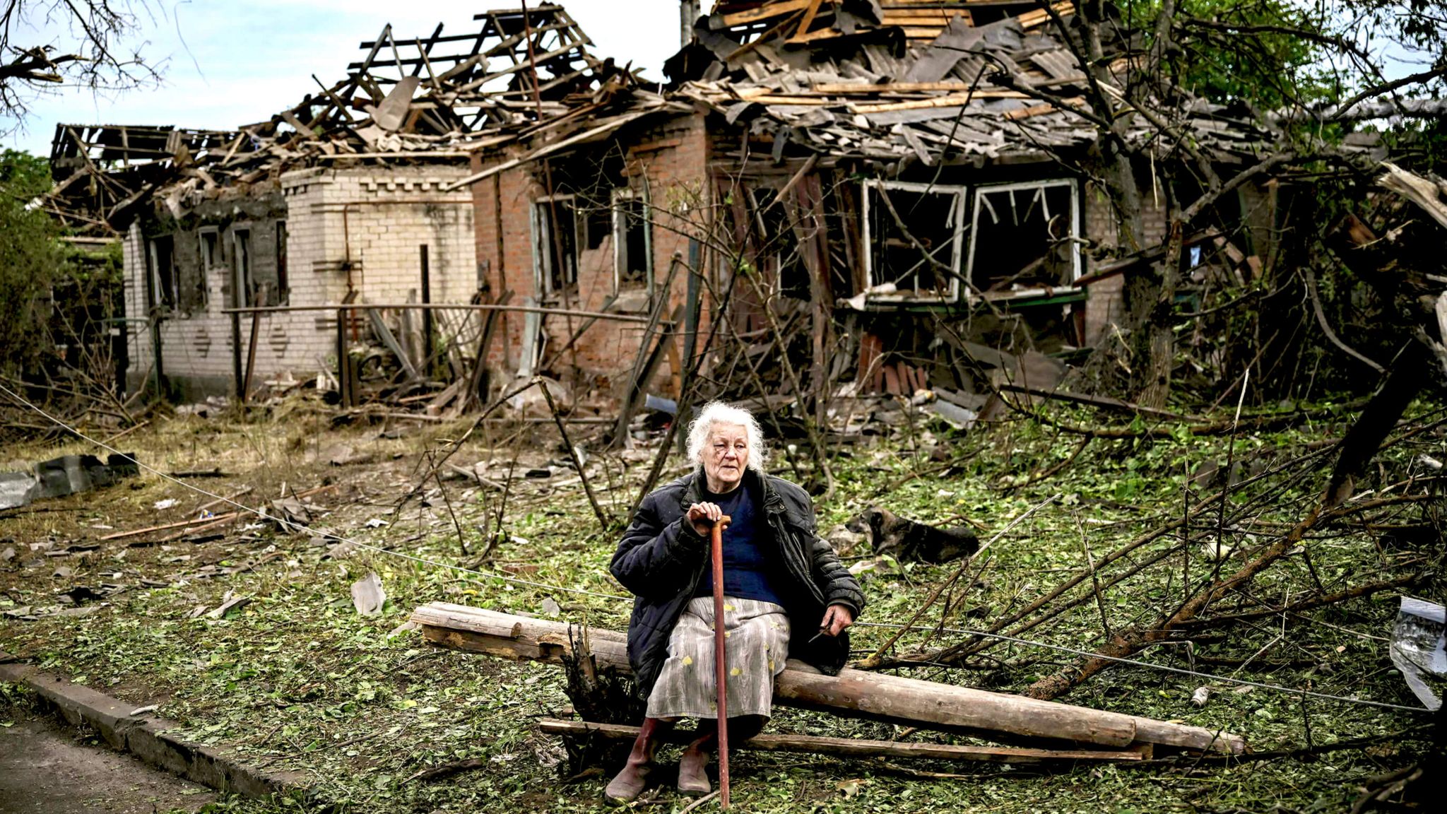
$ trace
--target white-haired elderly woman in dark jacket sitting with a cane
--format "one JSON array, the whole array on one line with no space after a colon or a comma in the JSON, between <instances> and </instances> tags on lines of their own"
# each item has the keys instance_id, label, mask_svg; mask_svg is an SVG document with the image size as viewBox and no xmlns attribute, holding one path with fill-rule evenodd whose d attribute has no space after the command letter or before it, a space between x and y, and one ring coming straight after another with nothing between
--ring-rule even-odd
<instances>
[{"instance_id":1,"label":"white-haired elderly woman in dark jacket sitting with a cane","mask_svg":"<svg viewBox=\"0 0 1447 814\"><path fill-rule=\"evenodd\" d=\"M686 717L699 718L699 739L679 762L679 791L709 792L705 766L718 736L709 533L721 516L731 517L724 532L731 739L763 729L786 658L839 672L849 655L844 630L864 608L860 584L815 533L809 494L764 472L752 414L705 406L689 427L689 459L693 474L644 498L614 555L614 576L637 597L628 660L648 697L628 763L603 792L619 805L638 797L658 737Z\"/></svg>"}]
</instances>

